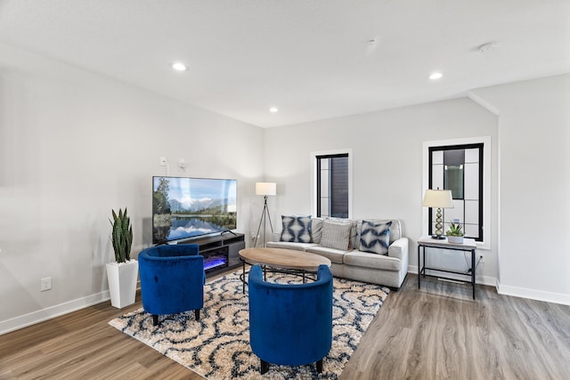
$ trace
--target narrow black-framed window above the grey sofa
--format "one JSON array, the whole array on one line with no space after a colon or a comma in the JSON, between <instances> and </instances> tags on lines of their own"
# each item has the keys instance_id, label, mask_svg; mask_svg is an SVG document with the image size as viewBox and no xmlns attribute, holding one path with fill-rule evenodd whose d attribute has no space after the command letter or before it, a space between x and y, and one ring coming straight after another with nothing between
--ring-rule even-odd
<instances>
[{"instance_id":1,"label":"narrow black-framed window above the grey sofa","mask_svg":"<svg viewBox=\"0 0 570 380\"><path fill-rule=\"evenodd\" d=\"M348 154L316 156L317 216L348 217Z\"/></svg>"}]
</instances>

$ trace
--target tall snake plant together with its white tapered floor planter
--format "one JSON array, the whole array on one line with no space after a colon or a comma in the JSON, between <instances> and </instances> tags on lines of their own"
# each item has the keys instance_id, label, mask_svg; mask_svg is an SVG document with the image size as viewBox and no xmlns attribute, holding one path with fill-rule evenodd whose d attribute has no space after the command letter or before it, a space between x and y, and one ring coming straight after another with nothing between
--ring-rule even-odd
<instances>
[{"instance_id":1,"label":"tall snake plant together with its white tapered floor planter","mask_svg":"<svg viewBox=\"0 0 570 380\"><path fill-rule=\"evenodd\" d=\"M138 263L131 259L133 244L133 226L125 211L111 210L113 219L109 220L111 242L115 251L115 261L107 263L107 279L109 279L110 304L118 309L134 303Z\"/></svg>"}]
</instances>

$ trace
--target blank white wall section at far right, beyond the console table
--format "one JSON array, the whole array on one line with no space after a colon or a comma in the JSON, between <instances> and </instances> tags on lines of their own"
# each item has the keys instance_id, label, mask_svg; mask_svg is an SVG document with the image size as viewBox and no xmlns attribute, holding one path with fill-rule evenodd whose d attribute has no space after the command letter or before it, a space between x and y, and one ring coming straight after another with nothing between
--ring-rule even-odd
<instances>
[{"instance_id":1,"label":"blank white wall section at far right, beyond the console table","mask_svg":"<svg viewBox=\"0 0 570 380\"><path fill-rule=\"evenodd\" d=\"M570 75L473 93L499 112L499 290L570 304Z\"/></svg>"}]
</instances>

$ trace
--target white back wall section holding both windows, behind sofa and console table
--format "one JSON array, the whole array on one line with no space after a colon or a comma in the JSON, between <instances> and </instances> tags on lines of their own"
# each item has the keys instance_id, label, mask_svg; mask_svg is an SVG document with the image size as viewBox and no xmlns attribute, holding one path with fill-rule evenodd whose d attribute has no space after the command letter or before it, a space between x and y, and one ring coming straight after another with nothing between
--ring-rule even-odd
<instances>
[{"instance_id":1,"label":"white back wall section holding both windows, behind sofa and console table","mask_svg":"<svg viewBox=\"0 0 570 380\"><path fill-rule=\"evenodd\" d=\"M422 233L422 144L424 141L491 137L491 249L477 268L478 281L497 277L497 117L469 99L439 101L352 117L339 117L265 132L265 177L278 183L271 199L273 220L311 213L310 152L353 150L354 218L386 217L403 222L411 239L410 270L417 271L416 241ZM495 228L493 228L495 227ZM462 256L446 252L452 267Z\"/></svg>"}]
</instances>

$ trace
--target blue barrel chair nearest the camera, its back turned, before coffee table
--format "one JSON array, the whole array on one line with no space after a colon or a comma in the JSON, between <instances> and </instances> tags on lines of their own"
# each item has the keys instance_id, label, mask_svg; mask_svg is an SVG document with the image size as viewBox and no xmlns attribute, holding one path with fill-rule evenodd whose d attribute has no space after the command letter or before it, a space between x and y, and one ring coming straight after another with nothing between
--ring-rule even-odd
<instances>
[{"instance_id":1,"label":"blue barrel chair nearest the camera, its back turned, before coffee table","mask_svg":"<svg viewBox=\"0 0 570 380\"><path fill-rule=\"evenodd\" d=\"M332 274L319 266L317 279L305 284L265 282L259 265L249 271L249 343L261 360L299 366L322 360L332 345Z\"/></svg>"}]
</instances>

